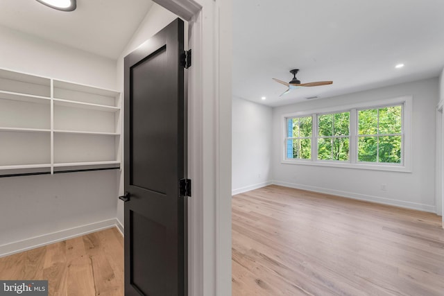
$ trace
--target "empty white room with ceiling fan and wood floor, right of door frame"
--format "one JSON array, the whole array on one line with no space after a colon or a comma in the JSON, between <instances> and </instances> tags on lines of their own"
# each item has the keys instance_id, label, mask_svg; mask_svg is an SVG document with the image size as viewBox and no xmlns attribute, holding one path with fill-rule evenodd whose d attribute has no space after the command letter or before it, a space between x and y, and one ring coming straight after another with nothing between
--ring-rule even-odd
<instances>
[{"instance_id":1,"label":"empty white room with ceiling fan and wood floor, right of door frame","mask_svg":"<svg viewBox=\"0 0 444 296\"><path fill-rule=\"evenodd\" d=\"M443 295L438 7L233 4L233 295Z\"/></svg>"}]
</instances>

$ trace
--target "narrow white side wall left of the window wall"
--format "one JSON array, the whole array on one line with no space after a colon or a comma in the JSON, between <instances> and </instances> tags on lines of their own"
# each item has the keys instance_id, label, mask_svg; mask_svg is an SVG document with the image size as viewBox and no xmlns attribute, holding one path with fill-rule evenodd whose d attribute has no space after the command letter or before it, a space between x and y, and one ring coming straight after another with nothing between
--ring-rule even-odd
<instances>
[{"instance_id":1,"label":"narrow white side wall left of the window wall","mask_svg":"<svg viewBox=\"0 0 444 296\"><path fill-rule=\"evenodd\" d=\"M232 194L271 184L271 107L232 100Z\"/></svg>"}]
</instances>

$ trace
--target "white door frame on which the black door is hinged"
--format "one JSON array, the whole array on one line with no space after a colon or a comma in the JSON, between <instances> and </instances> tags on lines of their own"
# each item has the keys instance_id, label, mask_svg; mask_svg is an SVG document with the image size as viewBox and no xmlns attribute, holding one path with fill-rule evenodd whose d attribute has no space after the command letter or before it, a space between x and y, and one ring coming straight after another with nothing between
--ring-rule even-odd
<instances>
[{"instance_id":1,"label":"white door frame on which the black door is hinged","mask_svg":"<svg viewBox=\"0 0 444 296\"><path fill-rule=\"evenodd\" d=\"M231 1L153 0L189 24L189 293L231 295ZM221 67L223 65L223 67Z\"/></svg>"}]
</instances>

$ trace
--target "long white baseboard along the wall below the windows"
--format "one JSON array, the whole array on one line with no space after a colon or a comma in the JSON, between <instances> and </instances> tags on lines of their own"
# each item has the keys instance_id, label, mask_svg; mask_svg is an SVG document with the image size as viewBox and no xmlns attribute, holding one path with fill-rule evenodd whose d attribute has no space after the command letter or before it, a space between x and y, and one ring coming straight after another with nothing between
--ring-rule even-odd
<instances>
[{"instance_id":1,"label":"long white baseboard along the wall below the windows","mask_svg":"<svg viewBox=\"0 0 444 296\"><path fill-rule=\"evenodd\" d=\"M334 189L326 189L326 188L322 188L322 187L302 185L302 184L296 184L296 183L280 182L280 181L276 181L276 180L273 180L272 183L275 185L285 186L285 187L289 187L289 188L303 189L303 190L314 191L314 192L319 192L319 193L327 193L327 194L331 194L331 195L338 195L338 196L341 196L344 198L352 198L354 200L363 200L366 202L376 202L378 204L388 204L388 205L395 206L395 207L416 209L418 211L427 211L427 212L436 214L436 207L431 206L429 204L420 204L420 203L416 203L416 202L405 202L402 200L393 200L391 198L381 198L379 196L353 193L353 192L347 192L347 191L339 191L339 190L334 190Z\"/></svg>"}]
</instances>

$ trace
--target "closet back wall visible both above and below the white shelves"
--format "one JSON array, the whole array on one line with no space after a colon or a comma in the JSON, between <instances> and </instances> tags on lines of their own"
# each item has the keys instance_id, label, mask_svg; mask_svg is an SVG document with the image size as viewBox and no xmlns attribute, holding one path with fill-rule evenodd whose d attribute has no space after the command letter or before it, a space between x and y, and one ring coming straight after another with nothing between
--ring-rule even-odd
<instances>
[{"instance_id":1,"label":"closet back wall visible both above and below the white shelves","mask_svg":"<svg viewBox=\"0 0 444 296\"><path fill-rule=\"evenodd\" d=\"M114 60L5 27L0 27L0 39L0 68L116 87ZM0 255L15 247L94 230L104 225L103 220L108 221L106 225L115 223L116 174L97 171L0 178ZM13 242L21 243L10 245Z\"/></svg>"}]
</instances>

